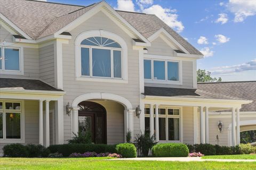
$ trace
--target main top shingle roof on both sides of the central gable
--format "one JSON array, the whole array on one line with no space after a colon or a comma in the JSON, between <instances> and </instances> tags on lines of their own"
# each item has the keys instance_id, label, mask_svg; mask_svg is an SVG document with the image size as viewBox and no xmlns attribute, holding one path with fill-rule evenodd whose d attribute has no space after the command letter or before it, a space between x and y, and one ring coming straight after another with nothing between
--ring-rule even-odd
<instances>
[{"instance_id":1,"label":"main top shingle roof on both sides of the central gable","mask_svg":"<svg viewBox=\"0 0 256 170\"><path fill-rule=\"evenodd\" d=\"M33 39L57 32L95 5L77 6L31 0L0 0L0 12ZM195 47L171 29L156 15L117 11L145 38L164 28L190 54L202 55Z\"/></svg>"}]
</instances>

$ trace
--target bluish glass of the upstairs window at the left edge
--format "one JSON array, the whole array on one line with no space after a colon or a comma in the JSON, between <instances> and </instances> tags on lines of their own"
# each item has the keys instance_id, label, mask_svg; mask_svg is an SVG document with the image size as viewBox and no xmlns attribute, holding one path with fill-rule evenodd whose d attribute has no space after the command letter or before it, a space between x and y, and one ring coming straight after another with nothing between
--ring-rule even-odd
<instances>
[{"instance_id":1,"label":"bluish glass of the upstairs window at the left edge","mask_svg":"<svg viewBox=\"0 0 256 170\"><path fill-rule=\"evenodd\" d=\"M0 70L20 71L20 49L0 47Z\"/></svg>"}]
</instances>

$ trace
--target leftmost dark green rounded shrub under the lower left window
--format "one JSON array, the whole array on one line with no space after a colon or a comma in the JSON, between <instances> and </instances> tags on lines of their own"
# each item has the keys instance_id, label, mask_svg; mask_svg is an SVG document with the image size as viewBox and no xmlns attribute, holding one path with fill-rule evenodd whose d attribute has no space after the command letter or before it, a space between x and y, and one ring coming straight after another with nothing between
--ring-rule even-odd
<instances>
[{"instance_id":1,"label":"leftmost dark green rounded shrub under the lower left window","mask_svg":"<svg viewBox=\"0 0 256 170\"><path fill-rule=\"evenodd\" d=\"M13 143L10 145L5 145L3 147L5 157L27 157L28 150L26 146L20 143Z\"/></svg>"}]
</instances>

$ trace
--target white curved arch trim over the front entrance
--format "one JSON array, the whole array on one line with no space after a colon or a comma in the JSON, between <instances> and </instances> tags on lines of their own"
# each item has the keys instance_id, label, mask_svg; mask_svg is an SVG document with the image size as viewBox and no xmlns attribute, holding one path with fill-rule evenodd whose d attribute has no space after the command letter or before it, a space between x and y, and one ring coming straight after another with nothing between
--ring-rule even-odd
<instances>
[{"instance_id":1,"label":"white curved arch trim over the front entrance","mask_svg":"<svg viewBox=\"0 0 256 170\"><path fill-rule=\"evenodd\" d=\"M108 94L108 93L90 93L90 94L84 94L81 96L76 97L73 102L72 102L72 107L77 107L77 105L81 102L81 101L85 101L85 100L91 100L91 99L107 99L107 100L113 100L116 101L120 104L122 104L126 110L130 110L132 109L132 104L130 103L129 100L127 100L126 98L119 96L119 95L115 95L115 94Z\"/></svg>"}]
</instances>

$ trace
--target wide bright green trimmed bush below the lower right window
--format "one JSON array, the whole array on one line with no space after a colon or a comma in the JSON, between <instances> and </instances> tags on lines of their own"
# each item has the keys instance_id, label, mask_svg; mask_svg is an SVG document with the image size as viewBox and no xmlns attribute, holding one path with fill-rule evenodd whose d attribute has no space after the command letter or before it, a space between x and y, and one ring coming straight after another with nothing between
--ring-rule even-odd
<instances>
[{"instance_id":1,"label":"wide bright green trimmed bush below the lower right window","mask_svg":"<svg viewBox=\"0 0 256 170\"><path fill-rule=\"evenodd\" d=\"M182 143L161 143L152 148L155 157L187 157L188 147Z\"/></svg>"}]
</instances>

